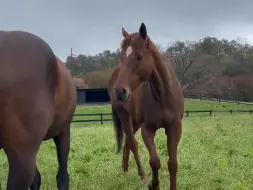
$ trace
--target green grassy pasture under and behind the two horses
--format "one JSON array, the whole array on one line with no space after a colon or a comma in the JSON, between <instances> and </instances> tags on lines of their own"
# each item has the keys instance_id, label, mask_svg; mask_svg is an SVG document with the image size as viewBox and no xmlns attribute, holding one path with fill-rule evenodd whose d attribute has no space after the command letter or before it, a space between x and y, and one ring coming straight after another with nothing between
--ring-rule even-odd
<instances>
[{"instance_id":1,"label":"green grassy pasture under and behind the two horses","mask_svg":"<svg viewBox=\"0 0 253 190\"><path fill-rule=\"evenodd\" d=\"M185 110L236 110L251 106L186 100ZM110 113L110 106L78 107L77 113ZM86 119L86 118L85 118ZM88 119L88 118L87 118ZM146 190L140 182L133 156L129 172L121 169L121 154L115 154L111 122L73 123L69 173L71 190ZM143 166L151 177L148 153L137 132ZM161 158L161 189L168 187L166 136L161 129L156 136ZM179 145L178 185L182 190L253 189L253 119L249 113L216 114L187 117ZM56 189L57 158L52 140L41 145L37 165L42 175L42 189ZM0 152L0 181L6 185L8 164Z\"/></svg>"}]
</instances>

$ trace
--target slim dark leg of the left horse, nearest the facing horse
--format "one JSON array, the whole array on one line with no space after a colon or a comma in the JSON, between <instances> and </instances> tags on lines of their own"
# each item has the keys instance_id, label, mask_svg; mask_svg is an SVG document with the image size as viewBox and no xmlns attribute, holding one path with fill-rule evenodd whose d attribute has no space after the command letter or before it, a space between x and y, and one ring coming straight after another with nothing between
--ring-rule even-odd
<instances>
[{"instance_id":1,"label":"slim dark leg of the left horse, nearest the facing horse","mask_svg":"<svg viewBox=\"0 0 253 190\"><path fill-rule=\"evenodd\" d=\"M68 174L68 155L70 147L70 126L64 132L54 137L54 143L57 149L57 158L59 163L58 173L56 176L59 190L69 189Z\"/></svg>"}]
</instances>

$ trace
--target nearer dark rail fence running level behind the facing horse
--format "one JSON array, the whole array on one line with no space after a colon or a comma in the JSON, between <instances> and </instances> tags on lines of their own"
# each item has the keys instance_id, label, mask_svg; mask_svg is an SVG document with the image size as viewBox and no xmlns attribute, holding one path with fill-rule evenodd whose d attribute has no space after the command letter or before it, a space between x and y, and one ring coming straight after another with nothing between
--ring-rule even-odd
<instances>
[{"instance_id":1,"label":"nearer dark rail fence running level behind the facing horse","mask_svg":"<svg viewBox=\"0 0 253 190\"><path fill-rule=\"evenodd\" d=\"M212 116L214 113L230 113L231 115L233 113L249 113L253 114L253 110L192 110L192 111L185 111L185 116L189 117L192 113L208 113L208 116ZM104 124L106 121L112 121L112 119L104 118L104 116L111 116L111 113L92 113L92 114L75 114L74 117L91 117L91 116L98 116L99 119L79 119L79 120L73 120L73 123L80 123L80 122L100 122L101 125ZM194 115L194 114L193 114Z\"/></svg>"}]
</instances>

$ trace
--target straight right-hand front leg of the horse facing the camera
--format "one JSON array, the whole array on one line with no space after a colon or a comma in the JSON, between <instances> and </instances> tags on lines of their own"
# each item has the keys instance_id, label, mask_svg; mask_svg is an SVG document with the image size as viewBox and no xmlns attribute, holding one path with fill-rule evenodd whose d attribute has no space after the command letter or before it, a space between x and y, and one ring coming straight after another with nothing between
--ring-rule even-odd
<instances>
[{"instance_id":1,"label":"straight right-hand front leg of the horse facing the camera","mask_svg":"<svg viewBox=\"0 0 253 190\"><path fill-rule=\"evenodd\" d=\"M168 170L170 173L170 190L177 189L177 147L182 134L182 122L176 121L173 125L170 125L165 129L167 135L168 146Z\"/></svg>"}]
</instances>

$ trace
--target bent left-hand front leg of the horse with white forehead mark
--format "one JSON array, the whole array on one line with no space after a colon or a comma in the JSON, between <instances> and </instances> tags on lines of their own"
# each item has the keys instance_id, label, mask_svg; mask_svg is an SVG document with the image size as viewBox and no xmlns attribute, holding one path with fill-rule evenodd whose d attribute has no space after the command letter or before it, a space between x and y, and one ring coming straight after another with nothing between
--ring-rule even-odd
<instances>
[{"instance_id":1,"label":"bent left-hand front leg of the horse with white forehead mark","mask_svg":"<svg viewBox=\"0 0 253 190\"><path fill-rule=\"evenodd\" d=\"M156 130L147 129L146 126L141 128L142 139L148 149L149 152L149 164L152 169L152 181L149 184L150 190L158 190L159 189L159 169L161 168L160 158L156 151L155 146L155 134Z\"/></svg>"}]
</instances>

